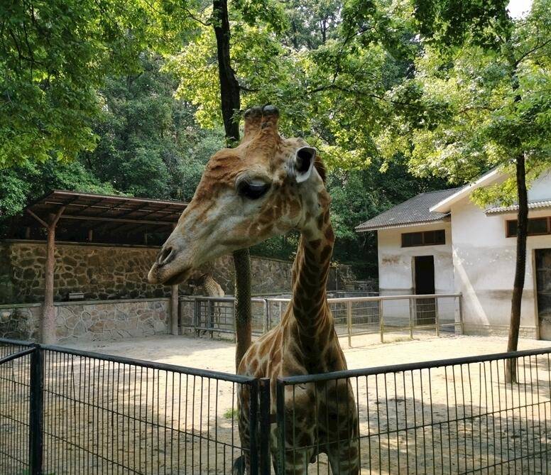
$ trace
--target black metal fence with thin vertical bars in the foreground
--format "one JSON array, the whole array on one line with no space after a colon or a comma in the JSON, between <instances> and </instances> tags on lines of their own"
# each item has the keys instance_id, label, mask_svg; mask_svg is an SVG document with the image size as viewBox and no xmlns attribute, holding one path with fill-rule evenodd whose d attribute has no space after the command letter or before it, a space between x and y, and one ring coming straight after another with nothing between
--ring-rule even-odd
<instances>
[{"instance_id":1,"label":"black metal fence with thin vertical bars in the foreground","mask_svg":"<svg viewBox=\"0 0 551 475\"><path fill-rule=\"evenodd\" d=\"M243 458L251 474L263 475L274 473L276 460L280 474L547 474L550 354L289 376L270 385L0 340L0 474L234 474L243 473ZM509 362L518 382L506 380ZM244 389L251 447L238 430Z\"/></svg>"}]
</instances>

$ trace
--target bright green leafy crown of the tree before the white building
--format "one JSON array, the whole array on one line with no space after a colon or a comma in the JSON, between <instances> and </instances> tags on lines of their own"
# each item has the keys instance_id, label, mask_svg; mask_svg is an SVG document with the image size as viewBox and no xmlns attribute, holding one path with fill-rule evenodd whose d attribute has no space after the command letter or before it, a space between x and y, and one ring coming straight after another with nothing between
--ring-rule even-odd
<instances>
[{"instance_id":1,"label":"bright green leafy crown of the tree before the white building","mask_svg":"<svg viewBox=\"0 0 551 475\"><path fill-rule=\"evenodd\" d=\"M476 2L471 3L476 10ZM388 159L400 150L410 157L410 167L417 175L437 175L454 183L473 180L495 166L507 168L518 155L528 160L531 177L541 170L542 162L549 163L549 2L536 0L525 20L508 19L508 34L503 37L503 12L496 11L493 7L485 11L485 15L495 13L495 18L486 18L484 31L493 31L500 42L498 50L479 41L479 23L474 20L469 23L474 28L471 36L461 36L464 43L454 52L453 61L449 50L443 54L440 48L425 45L425 53L415 62L415 77L393 91L397 96L414 92L417 109L412 109L413 114L397 114L391 128L379 138ZM459 42L457 32L450 33L448 26L438 23L430 27L436 28L432 38L440 38L444 45L448 40ZM509 180L501 187L479 192L476 200L510 202L514 194Z\"/></svg>"}]
</instances>

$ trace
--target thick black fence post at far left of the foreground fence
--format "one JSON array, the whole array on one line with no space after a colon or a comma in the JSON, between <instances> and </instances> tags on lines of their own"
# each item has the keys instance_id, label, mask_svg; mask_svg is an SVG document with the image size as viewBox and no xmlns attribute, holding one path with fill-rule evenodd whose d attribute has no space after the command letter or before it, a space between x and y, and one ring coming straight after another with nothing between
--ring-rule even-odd
<instances>
[{"instance_id":1,"label":"thick black fence post at far left of the foreground fence","mask_svg":"<svg viewBox=\"0 0 551 475\"><path fill-rule=\"evenodd\" d=\"M29 391L28 461L29 474L42 474L44 422L44 360L40 346L31 353Z\"/></svg>"}]
</instances>

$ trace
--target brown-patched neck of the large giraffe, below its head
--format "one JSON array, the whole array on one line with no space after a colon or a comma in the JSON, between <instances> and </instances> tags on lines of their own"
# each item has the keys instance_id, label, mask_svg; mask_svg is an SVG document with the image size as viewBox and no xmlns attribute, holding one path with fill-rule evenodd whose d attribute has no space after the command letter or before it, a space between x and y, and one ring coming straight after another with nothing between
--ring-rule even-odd
<instances>
[{"instance_id":1,"label":"brown-patched neck of the large giraffe, below its head","mask_svg":"<svg viewBox=\"0 0 551 475\"><path fill-rule=\"evenodd\" d=\"M315 220L315 226L302 232L293 265L293 316L299 334L309 339L322 327L332 325L326 287L333 244L329 211L325 211Z\"/></svg>"}]
</instances>

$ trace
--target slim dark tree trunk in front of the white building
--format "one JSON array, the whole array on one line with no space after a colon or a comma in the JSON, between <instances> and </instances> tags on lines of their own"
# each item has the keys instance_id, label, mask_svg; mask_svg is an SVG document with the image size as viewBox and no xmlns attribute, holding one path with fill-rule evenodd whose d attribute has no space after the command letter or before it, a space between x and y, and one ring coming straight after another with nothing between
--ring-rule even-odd
<instances>
[{"instance_id":1,"label":"slim dark tree trunk in front of the white building","mask_svg":"<svg viewBox=\"0 0 551 475\"><path fill-rule=\"evenodd\" d=\"M526 191L525 157L519 155L516 159L516 182L518 190L518 226L515 282L511 299L511 324L507 351L516 351L518 346L518 329L520 327L520 310L522 306L524 278L526 273L526 236L528 235L528 192ZM507 364L506 380L508 383L517 381L516 360Z\"/></svg>"}]
</instances>

